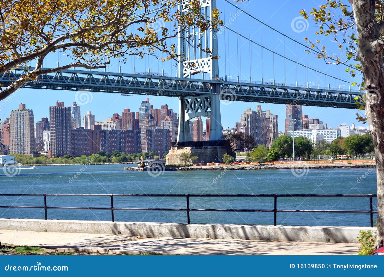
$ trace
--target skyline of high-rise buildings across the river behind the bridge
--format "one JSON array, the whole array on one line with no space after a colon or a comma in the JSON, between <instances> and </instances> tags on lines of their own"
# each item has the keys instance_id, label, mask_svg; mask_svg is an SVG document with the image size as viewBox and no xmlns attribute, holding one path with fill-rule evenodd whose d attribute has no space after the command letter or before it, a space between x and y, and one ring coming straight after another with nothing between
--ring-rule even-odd
<instances>
[{"instance_id":1,"label":"skyline of high-rise buildings across the river behind the bridge","mask_svg":"<svg viewBox=\"0 0 384 277\"><path fill-rule=\"evenodd\" d=\"M367 133L366 129L357 129L359 126L356 128L355 123L351 126L328 128L328 124L323 124L319 118L303 114L302 106L287 104L285 109L285 133L278 130L278 115L270 110L264 111L261 105L257 105L255 111L251 108L243 111L240 122L236 122L232 128L222 127L223 134L230 132L251 135L255 139L255 145L262 144L270 148L278 136L293 136L292 119L296 120L294 136L304 136L314 144L323 139L331 143L342 134L345 137ZM109 153L117 150L127 154L152 151L164 158L164 153L171 149L171 143L177 141L177 113L169 109L167 104L161 105L161 109L154 107L149 98L141 101L139 112L124 108L121 115L115 112L104 121L95 120L91 111L86 111L83 116L81 112L81 106L76 102L65 106L64 102L56 101L56 106L49 107L49 118L43 117L35 123L33 110L26 109L26 105L21 103L18 109L12 110L10 118L2 123L2 128L9 127L3 129L0 141L2 147L15 154L32 155L38 151L47 153L49 157L66 154L89 156L101 150ZM211 119L205 118L204 121L203 126L202 117L190 119L190 141L209 140ZM8 146L4 143L6 141Z\"/></svg>"}]
</instances>

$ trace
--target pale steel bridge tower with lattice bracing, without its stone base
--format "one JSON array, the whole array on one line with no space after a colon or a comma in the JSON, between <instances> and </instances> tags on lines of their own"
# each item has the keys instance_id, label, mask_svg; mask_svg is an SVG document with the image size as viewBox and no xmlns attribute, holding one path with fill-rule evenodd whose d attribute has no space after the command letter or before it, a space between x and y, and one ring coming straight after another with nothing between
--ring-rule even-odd
<instances>
[{"instance_id":1,"label":"pale steel bridge tower with lattice bracing, without its stone base","mask_svg":"<svg viewBox=\"0 0 384 277\"><path fill-rule=\"evenodd\" d=\"M188 10L188 3L180 4L180 11ZM206 20L211 19L212 10L216 8L216 0L200 0L201 12ZM196 48L200 44L199 48ZM179 37L179 77L190 78L196 73L203 73L209 78L218 78L218 59L212 60L218 55L217 30L209 30L200 33L199 28L190 27L187 33L183 32ZM200 49L209 48L212 53L206 53ZM212 57L211 57L212 56ZM195 66L191 66L193 63ZM220 85L212 85L212 94L201 96L182 96L179 98L179 132L177 143L191 141L189 121L197 116L211 119L210 141L222 139L222 125L220 115Z\"/></svg>"}]
</instances>

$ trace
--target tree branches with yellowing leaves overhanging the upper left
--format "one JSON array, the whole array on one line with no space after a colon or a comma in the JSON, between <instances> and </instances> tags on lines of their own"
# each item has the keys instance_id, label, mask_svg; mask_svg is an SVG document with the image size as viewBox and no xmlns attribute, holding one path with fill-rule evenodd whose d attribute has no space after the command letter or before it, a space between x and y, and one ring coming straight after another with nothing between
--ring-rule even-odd
<instances>
[{"instance_id":1,"label":"tree branches with yellowing leaves overhanging the upper left","mask_svg":"<svg viewBox=\"0 0 384 277\"><path fill-rule=\"evenodd\" d=\"M31 0L2 1L0 8L0 74L13 68L28 69L28 73L13 80L0 91L0 100L38 75L71 67L106 68L111 58L164 53L160 60L176 60L177 45L168 43L180 37L189 27L204 32L217 28L222 21L217 9L209 20L200 12L200 2L191 0L184 12L177 9L183 0ZM131 27L135 30L131 32ZM191 47L211 53L212 49ZM67 64L44 69L44 59L52 53L68 57ZM183 54L181 55L183 56ZM218 58L218 57L212 57ZM194 66L190 63L190 66Z\"/></svg>"}]
</instances>

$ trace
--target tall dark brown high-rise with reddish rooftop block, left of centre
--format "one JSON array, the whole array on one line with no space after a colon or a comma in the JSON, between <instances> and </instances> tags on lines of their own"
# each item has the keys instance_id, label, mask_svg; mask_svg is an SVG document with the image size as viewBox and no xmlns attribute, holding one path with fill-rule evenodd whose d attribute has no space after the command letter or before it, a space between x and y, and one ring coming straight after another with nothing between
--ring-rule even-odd
<instances>
[{"instance_id":1,"label":"tall dark brown high-rise with reddish rooftop block, left of centre","mask_svg":"<svg viewBox=\"0 0 384 277\"><path fill-rule=\"evenodd\" d=\"M61 157L71 153L72 107L64 102L56 102L49 108L50 116L50 156Z\"/></svg>"}]
</instances>

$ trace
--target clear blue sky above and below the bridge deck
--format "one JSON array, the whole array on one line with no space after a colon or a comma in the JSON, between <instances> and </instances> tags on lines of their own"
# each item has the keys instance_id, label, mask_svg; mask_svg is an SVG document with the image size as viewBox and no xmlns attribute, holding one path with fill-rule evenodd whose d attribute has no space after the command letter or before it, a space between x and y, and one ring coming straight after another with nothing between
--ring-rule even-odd
<instances>
[{"instance_id":1,"label":"clear blue sky above and below the bridge deck","mask_svg":"<svg viewBox=\"0 0 384 277\"><path fill-rule=\"evenodd\" d=\"M302 8L310 10L312 7L318 7L324 1L303 1L303 0L288 0L288 1L248 1L245 3L238 3L238 7L242 8L254 17L262 20L273 28L279 30L286 35L304 42L304 37L318 39L314 35L316 30L314 23L309 21L305 25L303 32L295 32L291 27L293 20L299 16L299 11ZM236 14L236 9L222 0L217 0L217 6L222 12L221 18L224 23L229 22L231 14ZM224 11L225 10L225 14ZM308 27L308 30L306 29ZM246 14L240 13L237 19L231 22L230 28L237 30L244 36L250 36L252 40L265 45L268 48L273 48L277 53L286 55L293 60L300 61L316 70L321 70L329 75L336 76L344 80L351 80L350 83L356 81L361 82L361 77L358 76L355 80L351 79L348 73L345 73L345 66L341 65L326 65L324 61L317 59L313 54L307 54L303 46L296 45L288 39L284 40L282 35L273 33L268 27L260 27L260 23L256 20L249 18ZM224 40L225 38L225 40ZM320 37L321 38L321 37ZM329 38L322 40L325 45L333 47L334 44L330 42ZM320 73L313 72L305 69L299 65L295 66L290 61L275 55L273 56L267 50L261 50L257 45L249 43L247 40L240 38L234 33L226 30L219 36L219 66L220 76L227 74L228 76L235 75L232 78L239 78L241 80L260 81L275 78L276 82L284 82L295 84L298 81L299 85L305 85L306 82L317 86L336 87L342 85L343 88L348 88L349 83L343 83L334 80ZM57 61L61 60L65 63L65 58L60 56L60 53L55 53L47 58L46 66L55 66ZM274 61L274 62L273 62ZM118 72L118 61L112 61L108 71ZM33 64L32 64L33 66ZM148 68L153 72L161 72L162 69L170 76L175 76L177 68L175 63L172 65L169 62L162 63L155 58L144 59L130 59L127 64L122 64L122 72L132 73L133 67L136 71L147 71ZM86 111L91 111L96 115L97 120L104 120L111 117L113 113L121 114L124 108L130 108L131 111L138 111L139 103L144 100L144 96L121 96L119 94L105 94L93 93L92 101L82 106L82 114ZM66 106L70 106L75 101L74 91L52 91L52 90L31 90L20 89L14 94L14 98L9 103L0 101L0 118L5 119L10 114L12 109L17 109L19 103L25 103L27 108L33 109L35 121L40 120L41 117L48 117L48 107L54 106L56 101L64 102ZM168 104L169 108L173 108L178 112L178 99L159 97L156 98L153 105L155 108L160 108L161 105ZM256 109L259 103L242 103L236 102L230 105L221 106L222 124L224 128L234 127L235 122L240 121L240 114L247 108ZM285 119L285 105L281 104L261 104L262 109L270 109L271 113L279 115L279 129L284 131ZM320 118L328 126L336 127L339 124L356 123L358 126L362 124L356 121L356 110L352 109L336 109L336 108L318 108L303 106L303 114L308 114L311 118ZM364 128L367 128L364 125Z\"/></svg>"}]
</instances>

